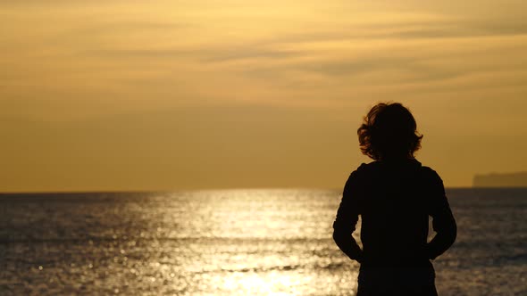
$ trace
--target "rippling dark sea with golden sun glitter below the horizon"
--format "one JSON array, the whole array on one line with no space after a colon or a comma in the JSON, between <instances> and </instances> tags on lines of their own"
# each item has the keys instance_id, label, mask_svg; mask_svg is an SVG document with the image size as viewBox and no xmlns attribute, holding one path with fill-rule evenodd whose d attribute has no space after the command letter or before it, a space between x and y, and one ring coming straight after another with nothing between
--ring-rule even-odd
<instances>
[{"instance_id":1,"label":"rippling dark sea with golden sun glitter below the horizon","mask_svg":"<svg viewBox=\"0 0 527 296\"><path fill-rule=\"evenodd\" d=\"M448 189L439 295L527 295L527 189ZM355 295L340 191L0 194L0 295ZM354 234L358 238L358 234Z\"/></svg>"}]
</instances>

